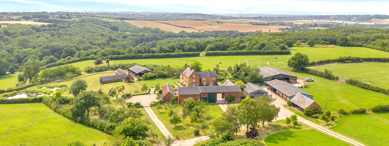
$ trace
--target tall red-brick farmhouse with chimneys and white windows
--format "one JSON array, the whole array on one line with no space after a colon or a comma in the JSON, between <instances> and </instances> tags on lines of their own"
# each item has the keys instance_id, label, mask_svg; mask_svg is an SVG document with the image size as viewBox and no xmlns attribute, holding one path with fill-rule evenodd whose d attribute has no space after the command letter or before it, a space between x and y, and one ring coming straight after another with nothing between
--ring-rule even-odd
<instances>
[{"instance_id":1,"label":"tall red-brick farmhouse with chimneys and white windows","mask_svg":"<svg viewBox=\"0 0 389 146\"><path fill-rule=\"evenodd\" d=\"M212 86L217 84L216 71L202 71L196 72L192 69L192 66L187 67L180 75L180 82L186 86Z\"/></svg>"}]
</instances>

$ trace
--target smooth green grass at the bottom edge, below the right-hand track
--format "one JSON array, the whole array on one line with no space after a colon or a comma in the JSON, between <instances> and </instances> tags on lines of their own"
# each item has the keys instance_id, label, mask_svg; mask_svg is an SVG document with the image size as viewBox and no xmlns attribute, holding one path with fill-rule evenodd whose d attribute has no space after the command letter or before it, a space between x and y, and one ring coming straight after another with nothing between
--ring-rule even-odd
<instances>
[{"instance_id":1,"label":"smooth green grass at the bottom edge, below the right-hand track","mask_svg":"<svg viewBox=\"0 0 389 146\"><path fill-rule=\"evenodd\" d=\"M315 129L287 131L265 138L267 146L350 146L341 140L323 134Z\"/></svg>"}]
</instances>

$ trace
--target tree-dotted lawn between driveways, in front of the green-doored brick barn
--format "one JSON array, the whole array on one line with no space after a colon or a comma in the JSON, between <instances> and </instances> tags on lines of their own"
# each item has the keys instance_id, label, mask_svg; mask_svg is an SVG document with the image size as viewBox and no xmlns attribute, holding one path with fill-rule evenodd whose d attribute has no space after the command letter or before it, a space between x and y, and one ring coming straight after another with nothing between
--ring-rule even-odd
<instances>
[{"instance_id":1,"label":"tree-dotted lawn between driveways, in front of the green-doored brick barn","mask_svg":"<svg viewBox=\"0 0 389 146\"><path fill-rule=\"evenodd\" d=\"M161 122L166 126L166 128L169 130L169 132L173 135L179 134L180 139L194 137L193 130L200 129L201 123L208 122L208 121L204 120L205 119L204 116L200 116L198 118L198 121L195 122L194 125L192 125L192 123L190 123L189 117L187 117L183 123L180 123L180 124L177 124L177 126L174 126L173 124L170 124L170 122L169 122L170 117L168 116L168 111L169 111L168 109L159 109L159 111L158 111L156 106L151 107L151 109L157 115L158 119L161 120ZM213 115L214 117L221 116L221 113L223 113L223 110L214 103L209 103L209 109L210 110L208 112L211 115ZM174 111L179 113L179 115L182 115L182 106L177 106L177 108L175 108ZM209 126L210 126L209 128L211 129L212 128L211 124L209 124ZM206 132L208 132L208 131L209 130L207 130ZM184 134L188 134L189 132L191 132L191 135L184 135ZM202 130L200 130L200 135L204 135Z\"/></svg>"}]
</instances>

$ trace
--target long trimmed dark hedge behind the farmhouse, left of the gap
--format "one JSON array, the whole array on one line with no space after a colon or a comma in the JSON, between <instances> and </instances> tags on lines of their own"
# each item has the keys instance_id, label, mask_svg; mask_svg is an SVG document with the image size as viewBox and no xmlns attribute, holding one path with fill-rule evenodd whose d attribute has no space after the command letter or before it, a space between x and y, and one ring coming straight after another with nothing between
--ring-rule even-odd
<instances>
[{"instance_id":1,"label":"long trimmed dark hedge behind the farmhouse, left of the gap","mask_svg":"<svg viewBox=\"0 0 389 146\"><path fill-rule=\"evenodd\" d=\"M198 57L200 52L111 55L109 60Z\"/></svg>"}]
</instances>

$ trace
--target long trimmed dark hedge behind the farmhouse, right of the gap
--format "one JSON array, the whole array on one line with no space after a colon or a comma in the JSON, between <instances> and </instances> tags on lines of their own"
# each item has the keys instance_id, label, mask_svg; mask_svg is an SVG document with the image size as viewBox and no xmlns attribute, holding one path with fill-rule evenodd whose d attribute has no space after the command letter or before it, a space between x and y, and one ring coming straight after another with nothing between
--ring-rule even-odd
<instances>
[{"instance_id":1,"label":"long trimmed dark hedge behind the farmhouse, right of the gap","mask_svg":"<svg viewBox=\"0 0 389 146\"><path fill-rule=\"evenodd\" d=\"M244 55L289 55L290 50L231 50L231 51L207 51L205 56L244 56Z\"/></svg>"}]
</instances>

